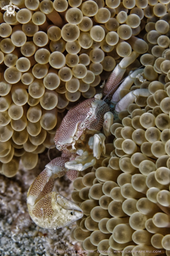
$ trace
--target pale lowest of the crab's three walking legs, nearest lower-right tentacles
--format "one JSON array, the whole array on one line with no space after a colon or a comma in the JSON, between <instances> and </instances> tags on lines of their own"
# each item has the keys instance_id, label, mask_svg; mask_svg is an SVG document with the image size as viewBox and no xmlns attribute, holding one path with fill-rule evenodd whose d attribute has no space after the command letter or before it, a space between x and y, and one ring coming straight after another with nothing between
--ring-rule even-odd
<instances>
[{"instance_id":1,"label":"pale lowest of the crab's three walking legs, nearest lower-right tentacles","mask_svg":"<svg viewBox=\"0 0 170 256\"><path fill-rule=\"evenodd\" d=\"M128 109L128 106L132 104L139 96L149 97L151 93L148 89L137 89L124 96L117 104L115 108L116 113L120 113L121 110Z\"/></svg>"}]
</instances>

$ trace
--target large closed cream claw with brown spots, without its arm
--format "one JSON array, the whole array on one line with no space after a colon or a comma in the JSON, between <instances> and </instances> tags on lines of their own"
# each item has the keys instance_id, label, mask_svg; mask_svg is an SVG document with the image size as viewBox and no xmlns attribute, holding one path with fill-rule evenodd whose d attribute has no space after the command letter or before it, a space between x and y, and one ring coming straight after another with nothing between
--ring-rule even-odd
<instances>
[{"instance_id":1,"label":"large closed cream claw with brown spots, without its arm","mask_svg":"<svg viewBox=\"0 0 170 256\"><path fill-rule=\"evenodd\" d=\"M83 217L82 209L58 192L48 193L35 205L28 205L28 210L41 228L62 228Z\"/></svg>"}]
</instances>

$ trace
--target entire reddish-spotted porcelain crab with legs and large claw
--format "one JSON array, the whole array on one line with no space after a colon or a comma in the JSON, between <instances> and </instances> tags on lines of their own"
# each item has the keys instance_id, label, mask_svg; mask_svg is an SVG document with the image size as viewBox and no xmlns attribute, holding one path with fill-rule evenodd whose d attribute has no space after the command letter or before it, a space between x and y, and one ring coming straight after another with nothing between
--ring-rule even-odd
<instances>
[{"instance_id":1,"label":"entire reddish-spotted porcelain crab with legs and large claw","mask_svg":"<svg viewBox=\"0 0 170 256\"><path fill-rule=\"evenodd\" d=\"M83 217L79 206L53 191L54 179L66 173L73 181L78 171L93 166L96 159L100 158L101 152L105 153L105 139L110 135L114 115L127 109L139 95L148 93L147 89L136 90L137 93L133 91L131 97L126 97L126 101L124 98L119 101L118 94L115 94L127 66L138 56L139 54L133 51L112 71L104 84L104 99L101 99L103 95L97 94L70 109L56 130L54 141L56 148L62 151L61 157L53 159L45 166L30 186L27 195L30 217L38 226L61 228ZM130 88L135 77L139 74L142 76L142 72L143 69L138 69L131 73L120 85L119 91L124 87ZM113 106L116 106L114 114L111 113ZM102 128L104 134L101 133Z\"/></svg>"}]
</instances>

